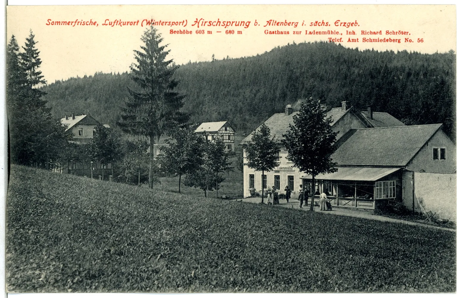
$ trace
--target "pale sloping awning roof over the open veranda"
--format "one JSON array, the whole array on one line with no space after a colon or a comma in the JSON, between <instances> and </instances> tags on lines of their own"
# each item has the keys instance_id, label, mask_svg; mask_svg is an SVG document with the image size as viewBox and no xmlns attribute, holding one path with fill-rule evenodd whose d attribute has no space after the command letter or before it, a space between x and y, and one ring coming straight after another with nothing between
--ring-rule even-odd
<instances>
[{"instance_id":1,"label":"pale sloping awning roof over the open veranda","mask_svg":"<svg viewBox=\"0 0 460 298\"><path fill-rule=\"evenodd\" d=\"M372 167L337 167L337 172L320 174L318 180L351 180L351 181L376 181L396 172L400 168L372 168ZM311 179L311 175L302 176L300 179Z\"/></svg>"}]
</instances>

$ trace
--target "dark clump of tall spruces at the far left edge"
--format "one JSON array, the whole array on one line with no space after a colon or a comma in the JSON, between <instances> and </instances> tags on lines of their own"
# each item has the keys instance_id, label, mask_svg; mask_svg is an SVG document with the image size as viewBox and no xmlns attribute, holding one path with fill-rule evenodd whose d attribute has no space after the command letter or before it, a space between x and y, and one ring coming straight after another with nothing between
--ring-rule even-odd
<instances>
[{"instance_id":1,"label":"dark clump of tall spruces at the far left edge","mask_svg":"<svg viewBox=\"0 0 460 298\"><path fill-rule=\"evenodd\" d=\"M36 87L45 84L38 70L41 61L30 32L24 53L19 52L14 35L7 46L6 98L10 130L11 162L49 169L49 161L59 161L68 145L61 123L41 99Z\"/></svg>"}]
</instances>

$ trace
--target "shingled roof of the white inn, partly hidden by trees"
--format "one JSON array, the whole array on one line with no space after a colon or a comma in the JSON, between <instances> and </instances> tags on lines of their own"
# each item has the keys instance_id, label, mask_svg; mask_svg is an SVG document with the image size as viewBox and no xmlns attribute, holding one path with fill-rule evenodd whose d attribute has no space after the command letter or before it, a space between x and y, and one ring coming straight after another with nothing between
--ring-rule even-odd
<instances>
[{"instance_id":1,"label":"shingled roof of the white inn, partly hidden by trees","mask_svg":"<svg viewBox=\"0 0 460 298\"><path fill-rule=\"evenodd\" d=\"M354 107L351 107L350 109L345 111L342 111L341 107L333 108L326 113L326 117L332 117L331 125L334 125L341 117L343 117L351 109L354 109ZM267 121L265 121L265 125L268 126L268 128L270 129L270 134L272 136L275 136L275 140L277 142L281 142L282 135L286 134L286 132L289 130L289 124L294 125L293 117L294 115L297 115L297 113L299 112L293 112L288 116L286 116L285 113L277 113L273 114L273 116L271 116L267 119ZM259 127L256 129L256 131L259 129ZM246 144L252 139L252 137L253 132L249 134L246 138L244 138L244 140L242 140L240 144Z\"/></svg>"}]
</instances>

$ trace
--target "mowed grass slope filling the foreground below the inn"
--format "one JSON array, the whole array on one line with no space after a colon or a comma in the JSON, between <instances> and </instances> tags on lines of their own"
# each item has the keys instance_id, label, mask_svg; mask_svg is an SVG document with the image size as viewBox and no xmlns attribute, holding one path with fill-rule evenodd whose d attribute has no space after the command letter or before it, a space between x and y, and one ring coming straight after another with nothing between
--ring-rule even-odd
<instances>
[{"instance_id":1,"label":"mowed grass slope filling the foreground below the inn","mask_svg":"<svg viewBox=\"0 0 460 298\"><path fill-rule=\"evenodd\" d=\"M13 165L14 292L455 292L455 234Z\"/></svg>"}]
</instances>

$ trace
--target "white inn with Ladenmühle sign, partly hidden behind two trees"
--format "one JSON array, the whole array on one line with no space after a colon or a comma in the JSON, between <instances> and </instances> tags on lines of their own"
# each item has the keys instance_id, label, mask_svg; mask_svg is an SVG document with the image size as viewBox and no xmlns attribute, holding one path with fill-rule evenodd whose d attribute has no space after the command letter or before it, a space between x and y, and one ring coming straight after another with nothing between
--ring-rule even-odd
<instances>
[{"instance_id":1,"label":"white inn with Ladenm\u00fchle sign, partly hidden behind two trees","mask_svg":"<svg viewBox=\"0 0 460 298\"><path fill-rule=\"evenodd\" d=\"M322 108L328 110L326 105L322 105ZM292 162L287 159L288 152L281 145L282 135L288 131L289 124L294 124L293 117L297 113L297 111L293 111L291 105L287 105L284 113L276 113L265 121L265 125L270 129L271 136L274 136L280 145L278 166L273 171L264 173L262 177L262 172L255 171L244 165L243 195L245 198L251 195L252 189L261 191L262 187L272 186L275 186L279 191L283 191L288 186L294 197L299 193L299 185L302 183L300 178L305 174L299 172L299 169L295 168ZM340 107L329 109L326 117L332 117L331 126L335 132L338 132L337 139L341 138L350 129L404 126L404 123L388 113L374 112L372 106L368 106L367 111L359 111L356 107L350 106L347 101L343 101ZM240 144L243 145L250 141L252 135L253 133L249 134ZM245 154L243 150L244 160L246 158Z\"/></svg>"}]
</instances>

